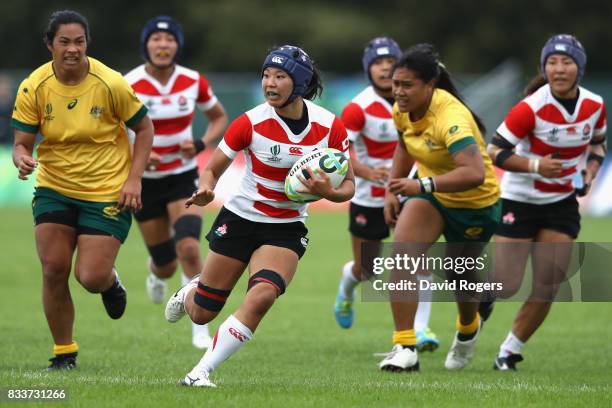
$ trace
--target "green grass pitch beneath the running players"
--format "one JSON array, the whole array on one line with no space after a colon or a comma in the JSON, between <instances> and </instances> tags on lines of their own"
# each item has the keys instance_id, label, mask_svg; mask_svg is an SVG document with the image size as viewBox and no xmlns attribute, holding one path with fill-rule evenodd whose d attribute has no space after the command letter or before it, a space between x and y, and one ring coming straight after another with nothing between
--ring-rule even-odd
<instances>
[{"instance_id":1,"label":"green grass pitch beneath the running players","mask_svg":"<svg viewBox=\"0 0 612 408\"><path fill-rule=\"evenodd\" d=\"M213 214L207 213L206 227ZM332 316L339 269L349 259L346 216L315 213L310 246L287 293L251 341L212 376L217 389L190 389L178 381L200 359L187 321L166 323L163 305L144 288L146 253L137 228L117 265L129 297L125 316L111 321L99 295L71 278L76 305L78 370L46 374L52 340L42 311L40 266L27 209L3 209L0 238L0 388L65 388L70 406L610 406L611 303L557 304L525 348L517 373L491 369L519 304L496 307L463 372L443 364L452 340L455 306L433 305L431 327L442 341L421 354L421 373L382 373L374 352L390 349L385 303L358 303L351 330ZM609 241L610 219L585 219L581 238ZM178 285L178 277L172 286ZM212 328L241 301L245 279ZM187 319L185 319L187 320ZM6 400L0 400L0 404ZM14 406L14 405L11 405ZM30 405L28 405L30 406Z\"/></svg>"}]
</instances>

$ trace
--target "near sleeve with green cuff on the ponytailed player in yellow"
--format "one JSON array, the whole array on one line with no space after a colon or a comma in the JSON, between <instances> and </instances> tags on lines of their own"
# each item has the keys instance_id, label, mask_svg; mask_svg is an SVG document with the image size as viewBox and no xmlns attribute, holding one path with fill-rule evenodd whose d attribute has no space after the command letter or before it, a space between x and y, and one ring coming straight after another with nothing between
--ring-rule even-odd
<instances>
[{"instance_id":1,"label":"near sleeve with green cuff on the ponytailed player in yellow","mask_svg":"<svg viewBox=\"0 0 612 408\"><path fill-rule=\"evenodd\" d=\"M475 134L477 125L472 114L467 110L448 109L439 126L439 134L442 135L443 143L451 154L457 153L470 144L477 144Z\"/></svg>"}]
</instances>

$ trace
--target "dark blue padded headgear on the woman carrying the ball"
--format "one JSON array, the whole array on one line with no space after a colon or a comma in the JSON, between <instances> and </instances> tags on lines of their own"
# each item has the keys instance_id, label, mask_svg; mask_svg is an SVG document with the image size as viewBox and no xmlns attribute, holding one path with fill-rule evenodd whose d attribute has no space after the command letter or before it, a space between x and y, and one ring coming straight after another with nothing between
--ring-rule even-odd
<instances>
[{"instance_id":1,"label":"dark blue padded headgear on the woman carrying the ball","mask_svg":"<svg viewBox=\"0 0 612 408\"><path fill-rule=\"evenodd\" d=\"M311 91L310 81L314 75L314 65L308 54L301 48L283 45L273 50L264 60L261 67L262 73L268 67L282 69L293 81L293 91L283 104L283 108L298 96L304 97Z\"/></svg>"}]
</instances>

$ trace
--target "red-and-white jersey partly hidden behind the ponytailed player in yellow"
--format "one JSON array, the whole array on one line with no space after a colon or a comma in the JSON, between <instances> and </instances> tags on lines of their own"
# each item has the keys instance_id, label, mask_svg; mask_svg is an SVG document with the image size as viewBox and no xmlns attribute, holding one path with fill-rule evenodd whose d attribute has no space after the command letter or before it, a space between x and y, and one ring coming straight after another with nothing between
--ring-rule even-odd
<instances>
[{"instance_id":1,"label":"red-and-white jersey partly hidden behind the ponytailed player in yellow","mask_svg":"<svg viewBox=\"0 0 612 408\"><path fill-rule=\"evenodd\" d=\"M397 145L393 106L372 86L361 91L342 111L342 122L353 143L357 160L368 167L391 167ZM351 200L364 207L383 207L385 187L355 177L355 196Z\"/></svg>"}]
</instances>

